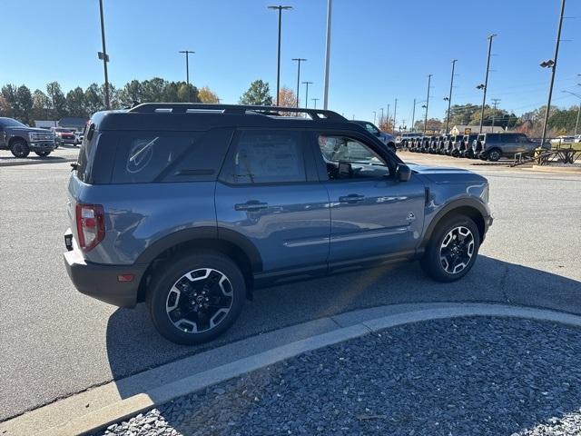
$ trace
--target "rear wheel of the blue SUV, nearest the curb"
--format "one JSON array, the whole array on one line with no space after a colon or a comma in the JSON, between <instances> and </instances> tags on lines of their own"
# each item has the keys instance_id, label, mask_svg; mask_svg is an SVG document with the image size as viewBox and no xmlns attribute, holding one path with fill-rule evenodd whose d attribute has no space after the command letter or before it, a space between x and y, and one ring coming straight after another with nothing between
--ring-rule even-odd
<instances>
[{"instance_id":1,"label":"rear wheel of the blue SUV, nearest the curb","mask_svg":"<svg viewBox=\"0 0 581 436\"><path fill-rule=\"evenodd\" d=\"M216 305L202 307L212 304L212 299ZM228 330L245 299L246 282L236 263L222 253L202 250L183 253L162 264L153 274L147 305L153 325L165 339L193 345L212 341ZM184 308L188 317L180 316Z\"/></svg>"}]
</instances>

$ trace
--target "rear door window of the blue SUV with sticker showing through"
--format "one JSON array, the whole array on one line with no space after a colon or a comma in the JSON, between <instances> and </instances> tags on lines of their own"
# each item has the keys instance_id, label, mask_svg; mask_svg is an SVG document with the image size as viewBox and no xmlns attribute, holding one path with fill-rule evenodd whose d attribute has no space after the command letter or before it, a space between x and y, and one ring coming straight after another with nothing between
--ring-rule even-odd
<instances>
[{"instance_id":1,"label":"rear door window of the blue SUV with sticker showing through","mask_svg":"<svg viewBox=\"0 0 581 436\"><path fill-rule=\"evenodd\" d=\"M242 131L231 159L233 183L307 180L299 131Z\"/></svg>"}]
</instances>

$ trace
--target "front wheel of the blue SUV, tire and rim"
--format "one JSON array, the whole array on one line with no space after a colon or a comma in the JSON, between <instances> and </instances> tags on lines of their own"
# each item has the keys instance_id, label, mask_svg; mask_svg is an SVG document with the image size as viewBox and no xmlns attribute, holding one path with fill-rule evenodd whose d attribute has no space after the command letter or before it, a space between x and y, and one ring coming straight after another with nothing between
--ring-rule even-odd
<instances>
[{"instance_id":1,"label":"front wheel of the blue SUV, tire and rim","mask_svg":"<svg viewBox=\"0 0 581 436\"><path fill-rule=\"evenodd\" d=\"M459 242L458 249L454 248L456 241ZM480 233L476 223L468 216L452 215L438 223L420 265L429 277L438 282L455 282L470 271L479 248Z\"/></svg>"}]
</instances>

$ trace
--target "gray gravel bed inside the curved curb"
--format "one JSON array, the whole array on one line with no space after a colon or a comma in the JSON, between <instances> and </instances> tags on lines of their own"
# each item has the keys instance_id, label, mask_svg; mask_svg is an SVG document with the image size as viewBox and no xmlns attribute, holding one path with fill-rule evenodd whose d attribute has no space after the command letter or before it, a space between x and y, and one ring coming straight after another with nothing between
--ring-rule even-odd
<instances>
[{"instance_id":1,"label":"gray gravel bed inside the curved curb","mask_svg":"<svg viewBox=\"0 0 581 436\"><path fill-rule=\"evenodd\" d=\"M581 330L419 322L225 381L105 435L581 434Z\"/></svg>"}]
</instances>

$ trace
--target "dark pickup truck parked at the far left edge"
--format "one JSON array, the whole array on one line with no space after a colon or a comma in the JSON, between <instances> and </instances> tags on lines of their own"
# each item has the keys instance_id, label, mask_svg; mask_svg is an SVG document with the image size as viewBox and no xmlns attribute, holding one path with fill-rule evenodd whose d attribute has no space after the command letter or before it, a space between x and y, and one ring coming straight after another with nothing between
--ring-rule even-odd
<instances>
[{"instance_id":1,"label":"dark pickup truck parked at the far left edge","mask_svg":"<svg viewBox=\"0 0 581 436\"><path fill-rule=\"evenodd\" d=\"M26 157L30 152L44 157L55 148L52 132L33 129L12 118L0 117L0 150L10 150L15 157Z\"/></svg>"}]
</instances>

